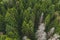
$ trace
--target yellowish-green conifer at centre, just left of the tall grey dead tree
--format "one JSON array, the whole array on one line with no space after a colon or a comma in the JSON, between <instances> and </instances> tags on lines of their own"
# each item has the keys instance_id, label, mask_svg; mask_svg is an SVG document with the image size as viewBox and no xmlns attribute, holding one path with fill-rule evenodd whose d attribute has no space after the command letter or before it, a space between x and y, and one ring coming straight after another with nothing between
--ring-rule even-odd
<instances>
[{"instance_id":1,"label":"yellowish-green conifer at centre, just left of the tall grey dead tree","mask_svg":"<svg viewBox=\"0 0 60 40\"><path fill-rule=\"evenodd\" d=\"M24 12L24 21L22 24L22 33L24 36L33 36L34 33L34 13L31 11L31 8L29 7L27 10Z\"/></svg>"}]
</instances>

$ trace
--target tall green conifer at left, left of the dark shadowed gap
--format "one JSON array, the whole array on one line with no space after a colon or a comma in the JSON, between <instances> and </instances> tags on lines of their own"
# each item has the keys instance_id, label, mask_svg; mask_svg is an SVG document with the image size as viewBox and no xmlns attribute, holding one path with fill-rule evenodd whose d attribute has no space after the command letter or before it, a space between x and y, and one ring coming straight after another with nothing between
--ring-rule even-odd
<instances>
[{"instance_id":1,"label":"tall green conifer at left, left of the dark shadowed gap","mask_svg":"<svg viewBox=\"0 0 60 40\"><path fill-rule=\"evenodd\" d=\"M19 34L17 31L17 22L15 19L15 9L8 9L6 16L5 16L5 21L6 21L6 34L11 37L11 38L17 38L16 40L19 39Z\"/></svg>"}]
</instances>

